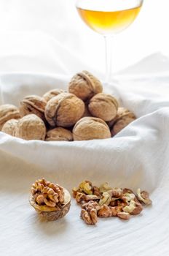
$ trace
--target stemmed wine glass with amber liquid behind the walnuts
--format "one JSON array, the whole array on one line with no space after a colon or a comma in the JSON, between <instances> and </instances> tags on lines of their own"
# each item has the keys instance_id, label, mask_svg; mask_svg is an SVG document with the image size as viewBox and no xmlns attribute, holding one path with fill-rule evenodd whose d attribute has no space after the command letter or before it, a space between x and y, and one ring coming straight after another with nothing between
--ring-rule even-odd
<instances>
[{"instance_id":1,"label":"stemmed wine glass with amber liquid behind the walnuts","mask_svg":"<svg viewBox=\"0 0 169 256\"><path fill-rule=\"evenodd\" d=\"M106 84L111 78L111 39L127 29L141 10L144 0L77 0L80 17L94 31L102 34L106 46Z\"/></svg>"}]
</instances>

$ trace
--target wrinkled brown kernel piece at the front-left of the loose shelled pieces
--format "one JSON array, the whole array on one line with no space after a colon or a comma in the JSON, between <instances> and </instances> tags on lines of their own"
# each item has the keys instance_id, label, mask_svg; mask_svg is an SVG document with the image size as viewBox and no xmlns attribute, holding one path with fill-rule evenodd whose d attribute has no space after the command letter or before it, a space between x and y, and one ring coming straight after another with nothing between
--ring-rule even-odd
<instances>
[{"instance_id":1,"label":"wrinkled brown kernel piece at the front-left of the loose shelled pieces","mask_svg":"<svg viewBox=\"0 0 169 256\"><path fill-rule=\"evenodd\" d=\"M81 217L88 225L95 225L98 222L98 203L89 201L82 206Z\"/></svg>"}]
</instances>

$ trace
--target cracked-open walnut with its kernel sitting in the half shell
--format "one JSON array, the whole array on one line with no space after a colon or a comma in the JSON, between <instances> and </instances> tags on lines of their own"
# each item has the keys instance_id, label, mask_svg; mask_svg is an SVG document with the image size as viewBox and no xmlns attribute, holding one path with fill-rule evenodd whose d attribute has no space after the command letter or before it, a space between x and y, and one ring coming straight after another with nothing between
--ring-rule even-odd
<instances>
[{"instance_id":1,"label":"cracked-open walnut with its kernel sitting in the half shell","mask_svg":"<svg viewBox=\"0 0 169 256\"><path fill-rule=\"evenodd\" d=\"M32 185L29 202L41 217L56 220L68 213L71 196L67 189L42 178Z\"/></svg>"}]
</instances>

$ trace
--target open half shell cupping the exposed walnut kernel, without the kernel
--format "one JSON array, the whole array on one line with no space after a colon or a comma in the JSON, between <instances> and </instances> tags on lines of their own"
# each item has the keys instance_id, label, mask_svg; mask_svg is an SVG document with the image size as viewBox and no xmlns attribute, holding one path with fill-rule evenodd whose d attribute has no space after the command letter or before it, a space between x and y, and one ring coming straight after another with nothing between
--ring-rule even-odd
<instances>
[{"instance_id":1,"label":"open half shell cupping the exposed walnut kernel, without the kernel","mask_svg":"<svg viewBox=\"0 0 169 256\"><path fill-rule=\"evenodd\" d=\"M35 202L33 195L29 197L29 202L41 217L44 217L45 219L51 220L51 221L60 219L60 218L63 218L68 213L71 206L71 195L69 194L68 190L65 188L63 188L63 191L64 191L64 202L57 207L39 206Z\"/></svg>"}]
</instances>

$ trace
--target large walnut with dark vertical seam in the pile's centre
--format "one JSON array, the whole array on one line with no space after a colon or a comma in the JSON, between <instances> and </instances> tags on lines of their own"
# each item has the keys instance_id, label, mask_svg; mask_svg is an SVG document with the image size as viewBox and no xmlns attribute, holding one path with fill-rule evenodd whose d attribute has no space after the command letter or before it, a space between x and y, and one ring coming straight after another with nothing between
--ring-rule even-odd
<instances>
[{"instance_id":1,"label":"large walnut with dark vertical seam in the pile's centre","mask_svg":"<svg viewBox=\"0 0 169 256\"><path fill-rule=\"evenodd\" d=\"M51 127L71 127L84 113L84 102L74 94L62 93L47 102L45 117Z\"/></svg>"}]
</instances>

